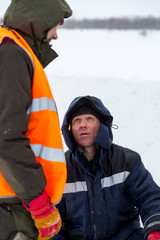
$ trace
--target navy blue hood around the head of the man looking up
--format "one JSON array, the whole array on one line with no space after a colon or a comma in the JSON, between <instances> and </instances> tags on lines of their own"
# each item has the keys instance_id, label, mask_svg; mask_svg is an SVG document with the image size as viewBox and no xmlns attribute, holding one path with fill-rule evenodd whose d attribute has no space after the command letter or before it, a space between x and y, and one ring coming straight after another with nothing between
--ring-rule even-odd
<instances>
[{"instance_id":1,"label":"navy blue hood around the head of the man looking up","mask_svg":"<svg viewBox=\"0 0 160 240\"><path fill-rule=\"evenodd\" d=\"M113 117L111 116L109 110L104 106L102 101L93 96L77 97L71 102L62 123L62 134L66 145L71 152L74 152L76 149L76 143L73 140L71 131L69 130L69 119L71 113L84 104L89 104L101 115L102 121L95 139L95 143L103 148L109 149L113 141L113 135L111 131Z\"/></svg>"}]
</instances>

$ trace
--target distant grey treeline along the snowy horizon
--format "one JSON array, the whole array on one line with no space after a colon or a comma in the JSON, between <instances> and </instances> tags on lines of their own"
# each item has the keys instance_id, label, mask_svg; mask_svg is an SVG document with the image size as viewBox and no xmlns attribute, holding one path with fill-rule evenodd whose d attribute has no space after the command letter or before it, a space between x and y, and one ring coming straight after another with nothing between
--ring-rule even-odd
<instances>
[{"instance_id":1,"label":"distant grey treeline along the snowy horizon","mask_svg":"<svg viewBox=\"0 0 160 240\"><path fill-rule=\"evenodd\" d=\"M160 18L155 17L136 17L129 18L108 18L108 19L69 19L65 21L63 28L67 29L110 29L110 30L160 30Z\"/></svg>"}]
</instances>

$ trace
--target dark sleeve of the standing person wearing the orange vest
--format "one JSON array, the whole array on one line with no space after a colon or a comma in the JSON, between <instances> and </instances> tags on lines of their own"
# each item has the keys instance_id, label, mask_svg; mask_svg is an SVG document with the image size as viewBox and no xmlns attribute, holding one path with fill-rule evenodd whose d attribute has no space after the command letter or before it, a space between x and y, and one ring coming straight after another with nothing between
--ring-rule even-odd
<instances>
[{"instance_id":1,"label":"dark sleeve of the standing person wearing the orange vest","mask_svg":"<svg viewBox=\"0 0 160 240\"><path fill-rule=\"evenodd\" d=\"M16 44L0 46L0 171L26 205L45 188L42 166L35 160L25 136L32 101L33 66Z\"/></svg>"}]
</instances>

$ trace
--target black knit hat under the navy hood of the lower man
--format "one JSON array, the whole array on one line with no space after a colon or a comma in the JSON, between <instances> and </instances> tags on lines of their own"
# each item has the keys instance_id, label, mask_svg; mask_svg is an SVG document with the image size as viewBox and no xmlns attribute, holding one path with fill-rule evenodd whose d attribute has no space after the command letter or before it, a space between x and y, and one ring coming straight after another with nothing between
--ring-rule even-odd
<instances>
[{"instance_id":1,"label":"black knit hat under the navy hood of the lower man","mask_svg":"<svg viewBox=\"0 0 160 240\"><path fill-rule=\"evenodd\" d=\"M71 123L73 118L83 114L92 114L96 118L98 118L100 122L102 122L103 119L102 115L98 111L96 111L93 107L91 107L89 103L83 104L73 109L73 111L69 113L68 121Z\"/></svg>"}]
</instances>

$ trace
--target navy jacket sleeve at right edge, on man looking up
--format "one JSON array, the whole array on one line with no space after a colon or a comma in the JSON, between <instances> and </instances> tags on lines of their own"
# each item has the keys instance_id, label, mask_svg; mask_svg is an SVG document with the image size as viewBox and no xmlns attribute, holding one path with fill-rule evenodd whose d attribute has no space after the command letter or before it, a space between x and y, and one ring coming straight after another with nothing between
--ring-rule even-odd
<instances>
[{"instance_id":1,"label":"navy jacket sleeve at right edge, on man looking up","mask_svg":"<svg viewBox=\"0 0 160 240\"><path fill-rule=\"evenodd\" d=\"M150 232L160 231L160 187L144 167L139 154L126 184L131 203L139 209L146 239Z\"/></svg>"}]
</instances>

